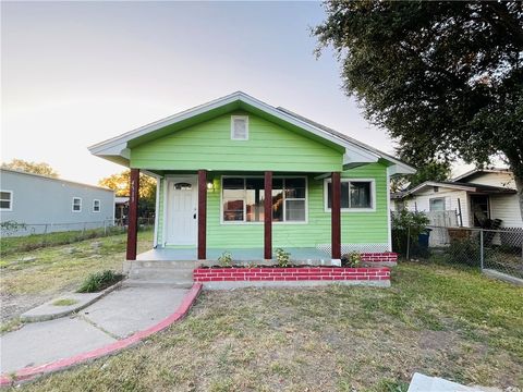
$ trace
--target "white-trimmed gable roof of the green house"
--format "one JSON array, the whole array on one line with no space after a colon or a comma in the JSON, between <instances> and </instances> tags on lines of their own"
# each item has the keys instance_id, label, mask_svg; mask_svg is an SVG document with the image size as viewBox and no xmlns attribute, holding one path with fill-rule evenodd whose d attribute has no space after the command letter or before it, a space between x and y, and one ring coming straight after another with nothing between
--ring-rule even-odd
<instances>
[{"instance_id":1,"label":"white-trimmed gable roof of the green house","mask_svg":"<svg viewBox=\"0 0 523 392\"><path fill-rule=\"evenodd\" d=\"M183 124L190 119L205 115L206 113L227 113L234 109L246 109L263 112L269 117L284 121L293 126L304 130L316 137L327 140L345 149L343 157L344 164L357 164L360 162L376 162L384 159L390 164L397 167L396 173L411 174L415 173L415 169L409 164L382 152L368 145L353 139L342 133L333 131L329 127L315 123L301 115L292 113L283 108L271 107L254 97L242 91L235 91L222 98L215 99L210 102L197 106L195 108L182 111L178 114L156 121L154 123L141 126L136 130L126 132L120 136L112 137L101 143L97 143L88 147L89 151L96 156L106 158L121 164L129 164L130 150L133 143L139 143L146 137L154 137L160 133L162 128L173 125ZM205 120L204 120L205 121Z\"/></svg>"}]
</instances>

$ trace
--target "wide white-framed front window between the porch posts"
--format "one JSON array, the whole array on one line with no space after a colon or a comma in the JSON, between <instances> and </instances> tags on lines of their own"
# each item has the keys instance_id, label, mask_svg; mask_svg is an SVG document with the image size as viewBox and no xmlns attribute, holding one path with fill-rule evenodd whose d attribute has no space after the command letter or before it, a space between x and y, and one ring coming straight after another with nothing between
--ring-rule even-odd
<instances>
[{"instance_id":1,"label":"wide white-framed front window between the porch posts","mask_svg":"<svg viewBox=\"0 0 523 392\"><path fill-rule=\"evenodd\" d=\"M223 177L224 222L263 222L265 188L263 177ZM272 220L304 222L306 219L306 180L272 180Z\"/></svg>"}]
</instances>

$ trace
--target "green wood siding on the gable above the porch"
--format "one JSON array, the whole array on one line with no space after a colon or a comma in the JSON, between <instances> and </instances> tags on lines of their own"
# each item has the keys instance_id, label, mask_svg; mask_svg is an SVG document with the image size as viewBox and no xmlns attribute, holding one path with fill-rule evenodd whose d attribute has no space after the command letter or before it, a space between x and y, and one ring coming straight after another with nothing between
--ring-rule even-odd
<instances>
[{"instance_id":1,"label":"green wood siding on the gable above the porch","mask_svg":"<svg viewBox=\"0 0 523 392\"><path fill-rule=\"evenodd\" d=\"M231 139L231 114L248 115L248 140ZM330 172L343 152L260 117L234 112L133 147L131 167L148 170Z\"/></svg>"}]
</instances>

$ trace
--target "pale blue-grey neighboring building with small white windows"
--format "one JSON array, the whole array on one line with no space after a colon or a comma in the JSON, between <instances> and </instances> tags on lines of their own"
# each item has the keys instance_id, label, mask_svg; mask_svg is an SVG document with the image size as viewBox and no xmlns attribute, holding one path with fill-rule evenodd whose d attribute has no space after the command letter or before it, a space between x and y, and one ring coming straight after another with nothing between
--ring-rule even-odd
<instances>
[{"instance_id":1,"label":"pale blue-grey neighboring building with small white windows","mask_svg":"<svg viewBox=\"0 0 523 392\"><path fill-rule=\"evenodd\" d=\"M114 218L108 188L8 169L0 169L0 188L1 222L27 224L13 235L94 229Z\"/></svg>"}]
</instances>

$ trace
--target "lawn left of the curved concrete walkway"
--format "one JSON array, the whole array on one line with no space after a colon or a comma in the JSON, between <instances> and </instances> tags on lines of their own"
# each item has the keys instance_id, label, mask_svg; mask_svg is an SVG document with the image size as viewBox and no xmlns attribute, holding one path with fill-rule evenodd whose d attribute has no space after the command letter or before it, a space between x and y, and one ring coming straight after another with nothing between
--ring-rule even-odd
<instances>
[{"instance_id":1,"label":"lawn left of the curved concrete walkway","mask_svg":"<svg viewBox=\"0 0 523 392\"><path fill-rule=\"evenodd\" d=\"M25 310L65 291L78 289L90 273L105 269L122 270L125 234L92 238L63 246L3 255L0 259L1 320L15 319ZM138 233L141 252L153 246L153 232ZM15 321L8 322L13 324Z\"/></svg>"}]
</instances>

